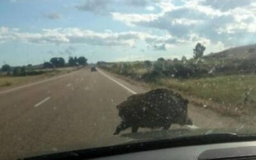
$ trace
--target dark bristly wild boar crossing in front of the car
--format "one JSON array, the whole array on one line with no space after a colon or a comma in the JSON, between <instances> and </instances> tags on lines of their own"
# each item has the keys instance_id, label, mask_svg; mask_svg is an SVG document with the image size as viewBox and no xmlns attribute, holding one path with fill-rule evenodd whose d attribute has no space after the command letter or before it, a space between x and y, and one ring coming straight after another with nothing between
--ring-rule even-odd
<instances>
[{"instance_id":1,"label":"dark bristly wild boar crossing in front of the car","mask_svg":"<svg viewBox=\"0 0 256 160\"><path fill-rule=\"evenodd\" d=\"M132 132L137 132L139 127L168 130L172 124L193 124L188 117L188 100L164 88L132 95L116 108L122 122L114 134L129 127Z\"/></svg>"}]
</instances>

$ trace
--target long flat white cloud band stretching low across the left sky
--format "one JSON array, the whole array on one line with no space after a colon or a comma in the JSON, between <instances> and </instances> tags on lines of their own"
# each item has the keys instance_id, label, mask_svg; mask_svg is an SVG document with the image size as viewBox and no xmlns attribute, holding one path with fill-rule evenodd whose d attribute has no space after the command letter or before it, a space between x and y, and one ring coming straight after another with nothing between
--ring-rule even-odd
<instances>
[{"instance_id":1,"label":"long flat white cloud band stretching low across the left sky","mask_svg":"<svg viewBox=\"0 0 256 160\"><path fill-rule=\"evenodd\" d=\"M117 46L124 45L133 47L137 41L145 42L154 47L164 44L179 43L170 35L155 36L144 32L128 31L113 32L106 30L104 32L95 32L79 28L56 28L43 29L40 33L25 33L19 29L0 28L0 42L22 42L31 44L88 44L88 45L106 45ZM157 48L157 47L154 47ZM70 49L67 53L71 51Z\"/></svg>"}]
</instances>

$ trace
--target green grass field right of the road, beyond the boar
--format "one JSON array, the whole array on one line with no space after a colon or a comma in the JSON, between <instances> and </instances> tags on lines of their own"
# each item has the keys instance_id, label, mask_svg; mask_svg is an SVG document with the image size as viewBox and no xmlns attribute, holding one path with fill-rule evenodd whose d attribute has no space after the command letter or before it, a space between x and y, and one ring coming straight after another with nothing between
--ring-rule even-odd
<instances>
[{"instance_id":1,"label":"green grass field right of the road, beyond the boar","mask_svg":"<svg viewBox=\"0 0 256 160\"><path fill-rule=\"evenodd\" d=\"M156 83L226 106L253 106L256 104L255 79L256 75L233 75L186 80L159 79ZM247 100L246 93L248 94Z\"/></svg>"}]
</instances>

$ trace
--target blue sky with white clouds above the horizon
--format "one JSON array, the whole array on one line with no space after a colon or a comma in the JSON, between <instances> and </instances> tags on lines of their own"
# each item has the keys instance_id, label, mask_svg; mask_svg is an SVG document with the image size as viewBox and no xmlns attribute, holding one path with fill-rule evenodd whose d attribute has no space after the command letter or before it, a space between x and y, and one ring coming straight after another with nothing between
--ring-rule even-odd
<instances>
[{"instance_id":1,"label":"blue sky with white clouds above the horizon","mask_svg":"<svg viewBox=\"0 0 256 160\"><path fill-rule=\"evenodd\" d=\"M0 66L157 60L256 43L256 0L1 0Z\"/></svg>"}]
</instances>

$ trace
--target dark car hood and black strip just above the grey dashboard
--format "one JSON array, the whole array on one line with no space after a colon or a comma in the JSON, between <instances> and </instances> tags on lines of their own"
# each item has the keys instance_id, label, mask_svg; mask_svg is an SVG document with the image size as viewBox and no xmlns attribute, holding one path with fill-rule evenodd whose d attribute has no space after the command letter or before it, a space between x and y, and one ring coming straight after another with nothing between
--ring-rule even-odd
<instances>
[{"instance_id":1,"label":"dark car hood and black strip just above the grey dashboard","mask_svg":"<svg viewBox=\"0 0 256 160\"><path fill-rule=\"evenodd\" d=\"M252 133L252 129L171 129L168 131L125 133L109 136L106 138L106 142L108 143L105 145L100 144L98 146L88 147L84 144L76 144L73 147L58 150L58 152L45 150L44 152L25 157L29 157L28 159L38 159L39 156L39 159L55 159L55 157L59 156L72 157L74 155L80 155L92 158L137 152L145 149L256 140L255 134L248 133Z\"/></svg>"}]
</instances>

